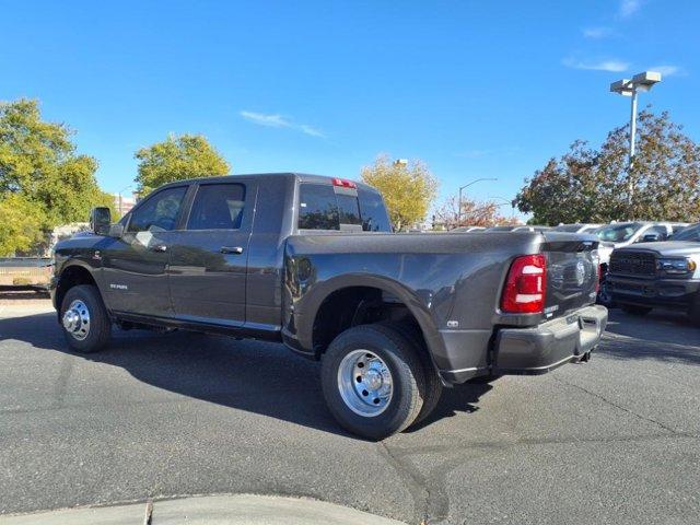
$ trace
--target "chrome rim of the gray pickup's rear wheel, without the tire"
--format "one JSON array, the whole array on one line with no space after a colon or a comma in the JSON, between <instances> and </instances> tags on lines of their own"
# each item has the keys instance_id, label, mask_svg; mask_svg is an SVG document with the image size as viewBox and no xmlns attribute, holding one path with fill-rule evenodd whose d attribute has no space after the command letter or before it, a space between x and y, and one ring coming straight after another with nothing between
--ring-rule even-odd
<instances>
[{"instance_id":1,"label":"chrome rim of the gray pickup's rear wheel, without the tire","mask_svg":"<svg viewBox=\"0 0 700 525\"><path fill-rule=\"evenodd\" d=\"M353 350L338 366L338 390L354 413L378 416L392 401L392 372L375 353Z\"/></svg>"}]
</instances>

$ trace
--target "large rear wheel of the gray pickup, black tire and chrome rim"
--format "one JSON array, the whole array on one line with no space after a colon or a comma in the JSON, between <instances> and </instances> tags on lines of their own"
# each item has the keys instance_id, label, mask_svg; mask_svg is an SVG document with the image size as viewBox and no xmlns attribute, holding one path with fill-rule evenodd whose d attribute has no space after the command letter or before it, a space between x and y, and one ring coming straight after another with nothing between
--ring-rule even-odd
<instances>
[{"instance_id":1,"label":"large rear wheel of the gray pickup, black tire and chrome rim","mask_svg":"<svg viewBox=\"0 0 700 525\"><path fill-rule=\"evenodd\" d=\"M340 334L324 354L324 397L350 432L381 440L418 417L425 395L419 349L400 330L362 325Z\"/></svg>"}]
</instances>

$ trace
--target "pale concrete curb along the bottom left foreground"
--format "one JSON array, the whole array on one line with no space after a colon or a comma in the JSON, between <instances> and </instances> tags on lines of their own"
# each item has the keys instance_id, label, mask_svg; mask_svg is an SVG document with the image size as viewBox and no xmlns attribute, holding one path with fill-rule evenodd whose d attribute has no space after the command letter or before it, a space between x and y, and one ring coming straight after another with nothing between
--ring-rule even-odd
<instances>
[{"instance_id":1,"label":"pale concrete curb along the bottom left foreground","mask_svg":"<svg viewBox=\"0 0 700 525\"><path fill-rule=\"evenodd\" d=\"M149 505L151 505L149 508ZM398 525L401 522L311 499L205 495L115 506L0 516L1 525Z\"/></svg>"}]
</instances>

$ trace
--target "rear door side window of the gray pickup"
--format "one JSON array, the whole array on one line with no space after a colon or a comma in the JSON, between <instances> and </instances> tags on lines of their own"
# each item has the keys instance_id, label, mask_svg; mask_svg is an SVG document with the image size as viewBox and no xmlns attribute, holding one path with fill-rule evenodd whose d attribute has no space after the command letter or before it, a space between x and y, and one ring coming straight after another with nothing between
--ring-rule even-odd
<instances>
[{"instance_id":1,"label":"rear door side window of the gray pickup","mask_svg":"<svg viewBox=\"0 0 700 525\"><path fill-rule=\"evenodd\" d=\"M195 196L187 230L237 230L244 206L243 184L202 184Z\"/></svg>"}]
</instances>

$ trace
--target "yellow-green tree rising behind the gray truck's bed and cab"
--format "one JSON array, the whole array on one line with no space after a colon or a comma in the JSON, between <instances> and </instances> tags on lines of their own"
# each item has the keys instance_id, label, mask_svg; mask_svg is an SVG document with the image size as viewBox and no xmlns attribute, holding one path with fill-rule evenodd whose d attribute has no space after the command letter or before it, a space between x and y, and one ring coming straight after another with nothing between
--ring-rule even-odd
<instances>
[{"instance_id":1,"label":"yellow-green tree rising behind the gray truck's bed and cab","mask_svg":"<svg viewBox=\"0 0 700 525\"><path fill-rule=\"evenodd\" d=\"M362 168L361 177L382 192L397 230L422 222L438 195L438 180L421 161L395 164L380 155Z\"/></svg>"}]
</instances>

